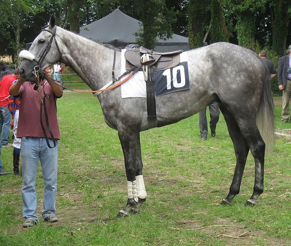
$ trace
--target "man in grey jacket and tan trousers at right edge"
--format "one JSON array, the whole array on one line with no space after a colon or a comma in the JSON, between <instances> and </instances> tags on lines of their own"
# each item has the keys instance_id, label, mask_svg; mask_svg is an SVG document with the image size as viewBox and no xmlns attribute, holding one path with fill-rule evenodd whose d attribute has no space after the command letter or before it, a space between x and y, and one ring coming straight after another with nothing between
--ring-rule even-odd
<instances>
[{"instance_id":1,"label":"man in grey jacket and tan trousers at right edge","mask_svg":"<svg viewBox=\"0 0 291 246\"><path fill-rule=\"evenodd\" d=\"M290 120L289 102L291 95L291 45L288 47L288 55L284 55L279 59L278 65L278 84L279 90L283 91L282 97L282 123Z\"/></svg>"}]
</instances>

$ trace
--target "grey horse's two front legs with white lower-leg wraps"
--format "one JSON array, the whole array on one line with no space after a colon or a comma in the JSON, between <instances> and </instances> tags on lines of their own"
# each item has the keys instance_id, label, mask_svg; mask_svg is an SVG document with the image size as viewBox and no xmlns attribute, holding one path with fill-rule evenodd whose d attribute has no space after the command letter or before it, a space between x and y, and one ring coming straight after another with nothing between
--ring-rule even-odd
<instances>
[{"instance_id":1,"label":"grey horse's two front legs with white lower-leg wraps","mask_svg":"<svg viewBox=\"0 0 291 246\"><path fill-rule=\"evenodd\" d=\"M118 131L118 136L123 150L128 180L128 201L117 216L124 217L129 215L132 209L133 212L139 212L142 203L146 199L146 189L143 176L141 175L142 161L139 131Z\"/></svg>"}]
</instances>

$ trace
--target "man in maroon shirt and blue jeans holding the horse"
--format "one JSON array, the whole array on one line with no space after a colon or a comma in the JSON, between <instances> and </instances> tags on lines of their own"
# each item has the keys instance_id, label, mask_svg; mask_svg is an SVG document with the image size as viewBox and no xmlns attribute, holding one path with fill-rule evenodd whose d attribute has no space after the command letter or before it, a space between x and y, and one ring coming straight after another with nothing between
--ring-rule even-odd
<instances>
[{"instance_id":1,"label":"man in maroon shirt and blue jeans holding the horse","mask_svg":"<svg viewBox=\"0 0 291 246\"><path fill-rule=\"evenodd\" d=\"M19 79L10 87L11 96L20 96L21 107L19 109L19 122L17 138L21 138L21 165L22 165L22 212L25 221L23 227L32 227L37 224L36 215L36 189L35 178L38 162L42 167L42 175L45 182L44 201L42 216L47 222L56 222L56 192L57 192L57 171L58 171L58 139L60 130L57 120L56 100L63 95L63 89L58 84L40 81L40 87L34 90L35 82L23 82ZM40 102L41 98L47 107L49 126L55 138L56 146L49 148L45 134L40 123ZM44 107L44 106L43 106ZM43 110L42 119L45 121ZM44 124L46 132L48 127ZM49 145L53 146L53 140Z\"/></svg>"}]
</instances>

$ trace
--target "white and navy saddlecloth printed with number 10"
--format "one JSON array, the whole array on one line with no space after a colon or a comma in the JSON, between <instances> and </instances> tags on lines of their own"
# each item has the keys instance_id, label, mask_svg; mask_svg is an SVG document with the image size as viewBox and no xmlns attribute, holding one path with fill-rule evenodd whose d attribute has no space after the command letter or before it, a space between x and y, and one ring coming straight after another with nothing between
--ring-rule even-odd
<instances>
[{"instance_id":1,"label":"white and navy saddlecloth printed with number 10","mask_svg":"<svg viewBox=\"0 0 291 246\"><path fill-rule=\"evenodd\" d=\"M121 74L126 71L125 51L126 49L121 51ZM156 97L190 88L186 52L180 54L178 66L155 71L155 88ZM121 84L121 98L146 98L146 82L143 71L136 72L127 82Z\"/></svg>"}]
</instances>

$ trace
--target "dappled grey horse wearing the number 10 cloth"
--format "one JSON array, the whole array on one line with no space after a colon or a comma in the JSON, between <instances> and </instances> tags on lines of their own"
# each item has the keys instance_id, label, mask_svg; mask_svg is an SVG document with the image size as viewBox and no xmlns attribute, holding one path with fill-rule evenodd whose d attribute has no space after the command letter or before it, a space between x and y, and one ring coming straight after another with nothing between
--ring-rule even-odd
<instances>
[{"instance_id":1,"label":"dappled grey horse wearing the number 10 cloth","mask_svg":"<svg viewBox=\"0 0 291 246\"><path fill-rule=\"evenodd\" d=\"M270 149L274 144L274 105L266 68L253 51L229 43L215 43L186 53L191 87L156 97L157 126L178 122L217 101L237 160L229 193L222 204L230 204L240 192L246 158L251 150L255 159L255 185L246 205L255 205L263 192L265 142ZM20 76L24 81L34 80L35 67L44 69L55 62L72 67L92 90L112 80L114 49L55 26L53 15L29 52L20 53L20 57ZM117 50L116 61L120 59L121 51ZM118 71L120 63L117 62L115 72ZM124 154L128 201L118 214L122 217L130 211L140 211L147 196L140 146L140 131L149 129L146 98L121 98L120 86L97 97L105 122L118 131ZM260 132L265 142L256 120L262 127Z\"/></svg>"}]
</instances>

